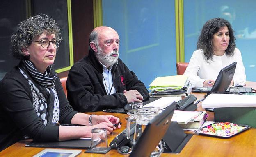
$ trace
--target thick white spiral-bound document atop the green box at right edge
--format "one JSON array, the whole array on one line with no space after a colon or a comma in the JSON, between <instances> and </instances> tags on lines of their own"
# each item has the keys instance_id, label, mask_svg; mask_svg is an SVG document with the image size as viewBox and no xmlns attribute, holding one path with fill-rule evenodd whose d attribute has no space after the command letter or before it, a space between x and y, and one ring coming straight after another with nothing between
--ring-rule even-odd
<instances>
[{"instance_id":1,"label":"thick white spiral-bound document atop the green box at right edge","mask_svg":"<svg viewBox=\"0 0 256 157\"><path fill-rule=\"evenodd\" d=\"M212 93L202 103L202 108L220 107L256 107L256 95Z\"/></svg>"}]
</instances>

